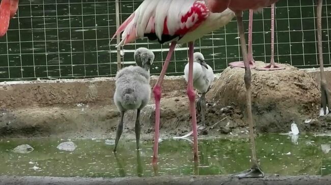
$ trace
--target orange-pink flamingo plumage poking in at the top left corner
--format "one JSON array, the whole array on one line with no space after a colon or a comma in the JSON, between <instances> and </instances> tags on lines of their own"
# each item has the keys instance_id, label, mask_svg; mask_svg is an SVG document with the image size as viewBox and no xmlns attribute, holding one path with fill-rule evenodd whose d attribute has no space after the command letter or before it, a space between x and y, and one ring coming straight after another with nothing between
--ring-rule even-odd
<instances>
[{"instance_id":1,"label":"orange-pink flamingo plumage poking in at the top left corner","mask_svg":"<svg viewBox=\"0 0 331 185\"><path fill-rule=\"evenodd\" d=\"M0 37L4 36L9 27L9 19L14 17L18 8L18 0L2 0L0 3Z\"/></svg>"}]
</instances>

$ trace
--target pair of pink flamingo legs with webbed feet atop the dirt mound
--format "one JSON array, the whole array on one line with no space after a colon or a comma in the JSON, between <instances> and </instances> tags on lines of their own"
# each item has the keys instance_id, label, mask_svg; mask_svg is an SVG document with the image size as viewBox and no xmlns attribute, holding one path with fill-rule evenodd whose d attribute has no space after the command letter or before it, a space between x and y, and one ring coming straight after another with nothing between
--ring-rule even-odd
<instances>
[{"instance_id":1,"label":"pair of pink flamingo legs with webbed feet atop the dirt mound","mask_svg":"<svg viewBox=\"0 0 331 185\"><path fill-rule=\"evenodd\" d=\"M253 50L252 50L252 27L253 27L253 10L250 10L249 15L249 50L248 50L248 60L250 63L251 69L256 68L255 61L253 59ZM242 67L244 68L243 62L231 62L229 63L230 66L233 67ZM285 69L285 67L282 67L274 62L274 4L271 5L271 59L270 64L259 68L258 70L280 70Z\"/></svg>"}]
</instances>

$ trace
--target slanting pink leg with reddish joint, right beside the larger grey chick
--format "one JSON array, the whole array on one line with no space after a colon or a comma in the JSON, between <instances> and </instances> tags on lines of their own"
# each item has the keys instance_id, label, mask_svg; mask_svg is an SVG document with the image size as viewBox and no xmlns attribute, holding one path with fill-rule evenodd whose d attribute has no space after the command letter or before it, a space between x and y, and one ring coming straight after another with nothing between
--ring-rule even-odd
<instances>
[{"instance_id":1,"label":"slanting pink leg with reddish joint, right beside the larger grey chick","mask_svg":"<svg viewBox=\"0 0 331 185\"><path fill-rule=\"evenodd\" d=\"M153 153L152 164L157 164L158 137L159 137L159 129L160 129L161 84L162 84L164 75L166 74L170 59L173 55L175 46L176 46L176 42L172 42L171 46L169 48L169 52L168 52L166 61L164 61L164 64L162 66L160 76L157 79L157 82L153 88L153 94L154 94L154 99L155 99L155 135L154 135L154 153Z\"/></svg>"}]
</instances>

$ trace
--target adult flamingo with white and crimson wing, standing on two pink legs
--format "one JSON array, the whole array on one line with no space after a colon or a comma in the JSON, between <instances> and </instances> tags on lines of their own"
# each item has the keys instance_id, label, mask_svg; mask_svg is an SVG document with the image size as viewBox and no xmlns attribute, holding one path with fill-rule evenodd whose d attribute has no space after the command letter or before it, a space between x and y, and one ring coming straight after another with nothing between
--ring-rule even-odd
<instances>
[{"instance_id":1,"label":"adult flamingo with white and crimson wing, standing on two pink legs","mask_svg":"<svg viewBox=\"0 0 331 185\"><path fill-rule=\"evenodd\" d=\"M204 34L224 26L233 17L234 12L224 9L213 13L210 0L145 0L118 28L113 38L122 33L122 41L117 47L128 44L137 38L147 36L160 44L171 43L160 76L153 88L155 98L155 137L153 164L157 163L160 123L161 84L167 71L176 44L188 43L189 72L187 96L189 99L192 130L194 135L194 160L198 161L198 134L193 89L193 52L194 41Z\"/></svg>"}]
</instances>

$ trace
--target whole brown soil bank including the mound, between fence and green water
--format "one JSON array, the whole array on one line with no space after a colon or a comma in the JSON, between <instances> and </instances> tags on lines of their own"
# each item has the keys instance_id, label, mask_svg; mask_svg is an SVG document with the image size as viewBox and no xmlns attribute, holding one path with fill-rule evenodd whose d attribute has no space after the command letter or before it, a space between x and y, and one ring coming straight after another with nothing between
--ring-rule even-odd
<instances>
[{"instance_id":1,"label":"whole brown soil bank including the mound, between fence and green water","mask_svg":"<svg viewBox=\"0 0 331 185\"><path fill-rule=\"evenodd\" d=\"M257 65L263 65L257 62ZM207 93L207 129L199 138L246 136L242 68L227 68ZM151 87L157 77L151 77ZM316 73L286 65L285 70L252 70L253 117L257 133L288 132L293 121L301 132L331 130L331 115L318 117ZM114 78L30 81L0 84L1 137L115 138L119 112L113 103ZM151 96L153 97L153 95ZM306 119L312 119L305 123ZM125 115L123 138L134 139L135 112ZM200 122L200 115L197 115ZM166 77L162 86L160 137L191 130L186 82ZM154 101L142 110L142 139L154 135Z\"/></svg>"}]
</instances>

